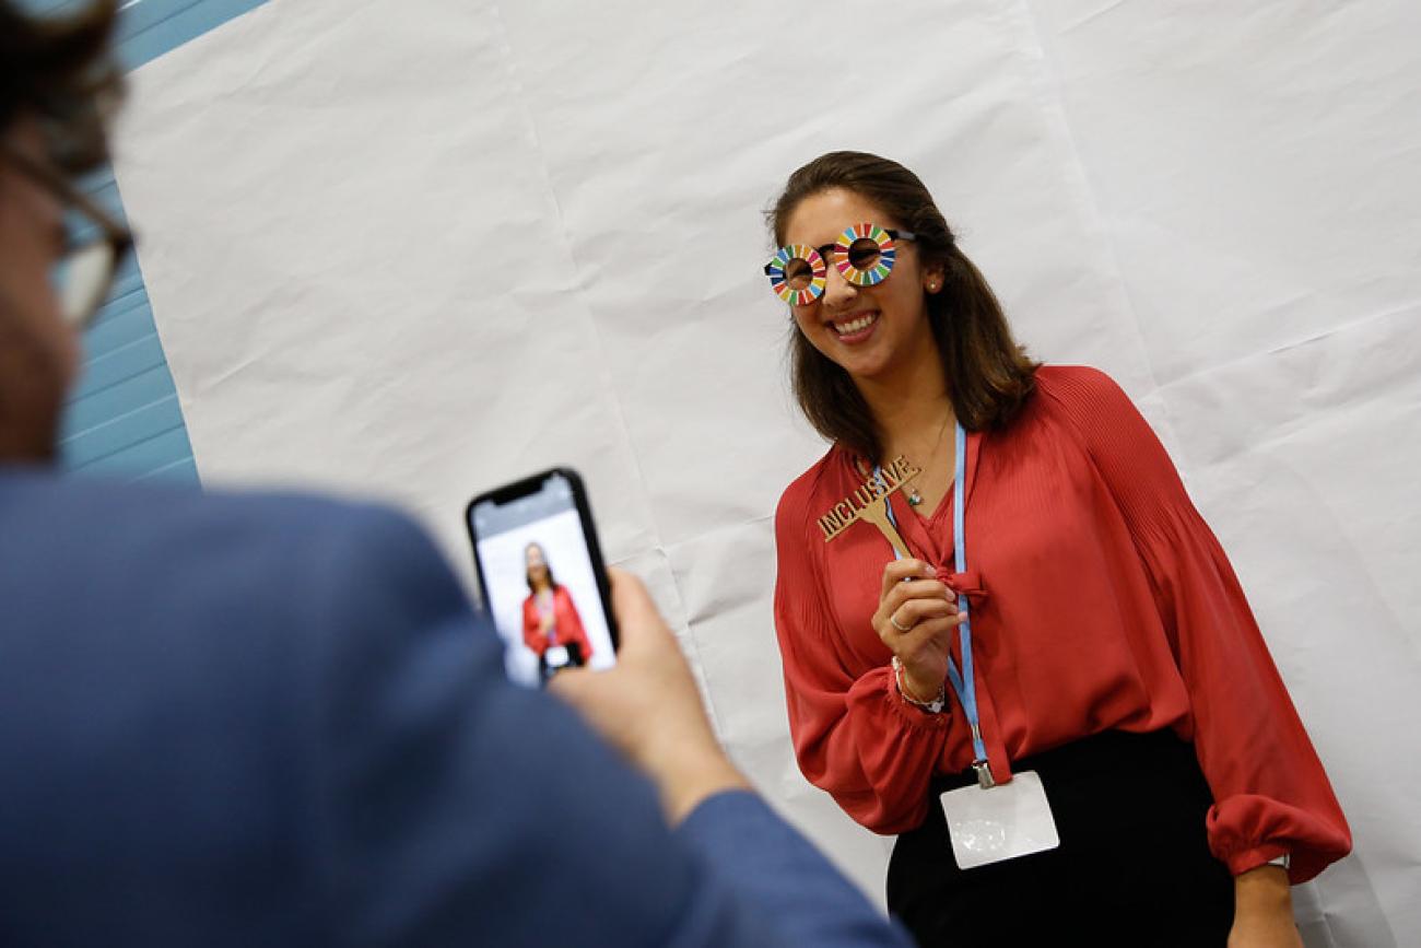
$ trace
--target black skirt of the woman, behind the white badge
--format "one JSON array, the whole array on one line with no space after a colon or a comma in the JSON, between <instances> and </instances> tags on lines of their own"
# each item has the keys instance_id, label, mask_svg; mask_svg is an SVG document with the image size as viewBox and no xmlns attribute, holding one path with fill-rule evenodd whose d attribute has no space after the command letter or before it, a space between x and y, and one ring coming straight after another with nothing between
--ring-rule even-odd
<instances>
[{"instance_id":1,"label":"black skirt of the woman, behind the white badge","mask_svg":"<svg viewBox=\"0 0 1421 948\"><path fill-rule=\"evenodd\" d=\"M888 864L888 911L919 945L1226 944L1233 878L1209 853L1214 797L1192 745L1111 731L1013 770L1040 775L1061 844L961 870L938 795L976 777L935 782L928 817Z\"/></svg>"}]
</instances>

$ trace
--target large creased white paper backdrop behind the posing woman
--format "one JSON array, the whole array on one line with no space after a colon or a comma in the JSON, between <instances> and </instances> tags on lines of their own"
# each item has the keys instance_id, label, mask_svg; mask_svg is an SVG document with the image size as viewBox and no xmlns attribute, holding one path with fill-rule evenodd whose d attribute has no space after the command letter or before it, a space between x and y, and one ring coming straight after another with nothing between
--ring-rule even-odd
<instances>
[{"instance_id":1,"label":"large creased white paper backdrop behind the posing woman","mask_svg":"<svg viewBox=\"0 0 1421 948\"><path fill-rule=\"evenodd\" d=\"M918 171L1039 358L1138 399L1351 820L1309 945L1421 942L1421 7L1410 0L274 0L142 68L118 179L203 480L392 499L580 468L720 735L793 762L770 517L823 446L760 212Z\"/></svg>"}]
</instances>

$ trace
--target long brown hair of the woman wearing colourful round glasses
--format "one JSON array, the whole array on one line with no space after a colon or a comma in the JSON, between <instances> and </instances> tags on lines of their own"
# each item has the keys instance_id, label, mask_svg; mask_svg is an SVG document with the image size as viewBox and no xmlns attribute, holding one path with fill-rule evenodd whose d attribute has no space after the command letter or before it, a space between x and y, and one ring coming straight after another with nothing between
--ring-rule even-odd
<instances>
[{"instance_id":1,"label":"long brown hair of the woman wearing colourful round glasses","mask_svg":"<svg viewBox=\"0 0 1421 948\"><path fill-rule=\"evenodd\" d=\"M1034 391L1037 364L1012 337L986 277L958 249L952 229L917 175L895 161L864 152L820 155L790 175L767 215L776 244L784 243L786 225L801 200L836 188L861 195L899 227L914 232L924 267L944 267L944 287L926 294L926 303L952 411L969 431L1006 425ZM791 324L791 334L790 372L800 411L824 438L880 459L878 425L853 378L814 348L797 325Z\"/></svg>"}]
</instances>

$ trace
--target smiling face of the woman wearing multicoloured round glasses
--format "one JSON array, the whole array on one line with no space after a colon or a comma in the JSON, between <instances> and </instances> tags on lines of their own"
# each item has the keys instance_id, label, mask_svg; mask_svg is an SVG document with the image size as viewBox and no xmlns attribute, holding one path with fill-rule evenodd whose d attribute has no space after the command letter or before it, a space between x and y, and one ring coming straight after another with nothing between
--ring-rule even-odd
<instances>
[{"instance_id":1,"label":"smiling face of the woman wearing multicoloured round glasses","mask_svg":"<svg viewBox=\"0 0 1421 948\"><path fill-rule=\"evenodd\" d=\"M840 188L810 195L790 213L784 243L821 247L857 223L901 227L867 198ZM905 358L921 355L932 344L928 304L929 284L941 284L942 271L925 273L912 242L898 242L892 273L874 286L854 286L826 260L824 293L807 306L794 306L800 333L854 379L884 377Z\"/></svg>"}]
</instances>

